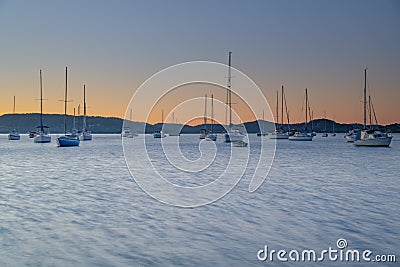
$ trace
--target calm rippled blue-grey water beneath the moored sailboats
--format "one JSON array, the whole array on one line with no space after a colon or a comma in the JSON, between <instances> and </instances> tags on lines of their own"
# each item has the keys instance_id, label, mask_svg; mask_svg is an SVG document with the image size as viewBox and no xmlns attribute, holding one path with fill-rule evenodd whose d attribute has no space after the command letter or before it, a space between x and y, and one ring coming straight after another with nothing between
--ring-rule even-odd
<instances>
[{"instance_id":1,"label":"calm rippled blue-grey water beneath the moored sailboats","mask_svg":"<svg viewBox=\"0 0 400 267\"><path fill-rule=\"evenodd\" d=\"M250 139L257 147L259 137ZM182 153L195 159L198 136L182 140ZM78 148L0 135L0 150L0 266L271 266L279 262L257 260L264 245L321 251L338 238L400 261L400 136L391 148L355 147L341 134L278 140L256 192L245 175L221 200L192 209L145 194L118 135L95 135Z\"/></svg>"}]
</instances>

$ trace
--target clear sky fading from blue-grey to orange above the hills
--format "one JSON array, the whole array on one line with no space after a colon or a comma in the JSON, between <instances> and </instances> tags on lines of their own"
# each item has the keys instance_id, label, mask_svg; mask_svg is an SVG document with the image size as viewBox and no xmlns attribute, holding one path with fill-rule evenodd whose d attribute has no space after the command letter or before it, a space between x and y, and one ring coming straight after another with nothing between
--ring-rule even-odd
<instances>
[{"instance_id":1,"label":"clear sky fading from blue-grey to orange above the hills","mask_svg":"<svg viewBox=\"0 0 400 267\"><path fill-rule=\"evenodd\" d=\"M227 64L232 51L232 66L262 90L266 111L274 112L284 85L292 122L304 120L305 88L314 118L326 113L338 122L362 122L368 68L378 122L398 123L399 29L395 0L0 0L0 114L12 113L14 95L17 113L39 112L40 69L44 113L63 113L68 66L69 114L82 103L86 84L89 115L123 118L153 74L195 60ZM199 92L192 86L184 95ZM177 99L165 99L164 107ZM200 104L191 108L204 112ZM262 110L256 113L261 118Z\"/></svg>"}]
</instances>

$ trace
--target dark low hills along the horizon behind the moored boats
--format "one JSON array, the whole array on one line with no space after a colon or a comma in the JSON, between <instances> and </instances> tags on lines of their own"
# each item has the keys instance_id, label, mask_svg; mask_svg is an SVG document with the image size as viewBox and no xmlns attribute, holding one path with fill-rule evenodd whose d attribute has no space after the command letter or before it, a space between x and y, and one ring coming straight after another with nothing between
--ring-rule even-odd
<instances>
[{"instance_id":1,"label":"dark low hills along the horizon behind the moored boats","mask_svg":"<svg viewBox=\"0 0 400 267\"><path fill-rule=\"evenodd\" d=\"M316 132L322 132L325 128L328 132L332 131L332 120L318 119L313 120L313 130ZM50 127L51 133L62 133L64 132L64 115L62 114L43 114L43 122L45 125ZM114 117L100 117L100 116L89 116L86 117L87 127L93 133L120 133L122 129L123 120ZM9 133L10 130L17 128L20 133L28 133L35 130L40 124L40 114L29 113L29 114L5 114L0 116L0 133ZM67 116L67 129L71 129L73 124L73 116ZM262 129L266 132L272 132L274 130L274 123L268 121L260 121L263 125ZM76 125L82 125L82 116L76 117ZM146 133L153 133L155 130L161 129L162 124L148 124L143 122L132 122L130 125L132 129L145 129ZM179 125L179 124L165 124L166 128L164 131L172 131L175 129L181 133L186 134L197 134L200 129L204 128L204 125L190 126L190 125ZM248 133L257 133L260 131L258 122L246 122L245 127ZM308 128L310 129L311 123ZM400 124L390 124L386 126L378 126L381 129L387 129L393 133L400 133ZM81 127L80 127L81 128ZM210 126L208 125L208 128ZM341 124L335 122L335 132L345 133L351 129L362 128L361 124ZM287 129L287 125L284 125L284 129ZM291 129L304 129L304 124L292 124ZM215 125L214 131L217 133L223 133L224 127L222 125ZM141 132L141 131L139 131Z\"/></svg>"}]
</instances>

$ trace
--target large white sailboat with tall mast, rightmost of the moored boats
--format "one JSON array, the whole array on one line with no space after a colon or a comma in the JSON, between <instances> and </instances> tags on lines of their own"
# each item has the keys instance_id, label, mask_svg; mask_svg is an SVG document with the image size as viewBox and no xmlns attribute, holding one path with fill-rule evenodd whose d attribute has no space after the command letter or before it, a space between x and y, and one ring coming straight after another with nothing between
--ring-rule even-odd
<instances>
[{"instance_id":1,"label":"large white sailboat with tall mast, rightmost of the moored boats","mask_svg":"<svg viewBox=\"0 0 400 267\"><path fill-rule=\"evenodd\" d=\"M356 146L389 146L392 136L381 131L374 130L371 123L371 98L369 97L370 127L367 129L367 69L364 70L364 129L360 131L355 140ZM375 114L375 111L374 111ZM375 118L376 120L376 118Z\"/></svg>"}]
</instances>

